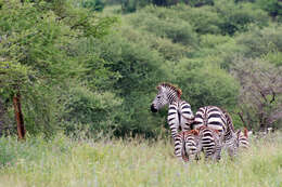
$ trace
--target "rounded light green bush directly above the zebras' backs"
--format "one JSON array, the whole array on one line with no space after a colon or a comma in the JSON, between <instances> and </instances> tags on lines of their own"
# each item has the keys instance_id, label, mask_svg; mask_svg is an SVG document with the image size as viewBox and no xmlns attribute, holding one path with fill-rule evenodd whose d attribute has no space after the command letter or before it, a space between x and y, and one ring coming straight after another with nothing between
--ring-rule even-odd
<instances>
[{"instance_id":1,"label":"rounded light green bush directly above the zebras' backs","mask_svg":"<svg viewBox=\"0 0 282 187\"><path fill-rule=\"evenodd\" d=\"M230 111L236 106L239 83L225 70L201 62L182 61L175 67L176 82L181 84L183 98L194 111L202 106L215 105Z\"/></svg>"}]
</instances>

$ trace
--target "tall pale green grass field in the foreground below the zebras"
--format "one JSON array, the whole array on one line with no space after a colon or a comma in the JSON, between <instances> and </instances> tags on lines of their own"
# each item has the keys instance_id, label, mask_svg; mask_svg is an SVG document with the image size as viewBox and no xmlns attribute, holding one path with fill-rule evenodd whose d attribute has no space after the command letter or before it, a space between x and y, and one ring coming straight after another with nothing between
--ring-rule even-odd
<instances>
[{"instance_id":1,"label":"tall pale green grass field in the foreground below the zebras","mask_svg":"<svg viewBox=\"0 0 282 187\"><path fill-rule=\"evenodd\" d=\"M0 187L282 186L282 138L253 141L231 161L183 164L168 141L0 139Z\"/></svg>"}]
</instances>

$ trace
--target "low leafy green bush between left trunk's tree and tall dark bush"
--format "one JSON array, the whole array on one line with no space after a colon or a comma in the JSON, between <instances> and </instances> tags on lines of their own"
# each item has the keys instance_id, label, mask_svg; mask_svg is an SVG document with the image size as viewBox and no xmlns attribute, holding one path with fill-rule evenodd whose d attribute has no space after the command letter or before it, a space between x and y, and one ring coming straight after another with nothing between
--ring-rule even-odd
<instances>
[{"instance_id":1,"label":"low leafy green bush between left trunk's tree and tall dark bush","mask_svg":"<svg viewBox=\"0 0 282 187\"><path fill-rule=\"evenodd\" d=\"M84 86L70 88L63 108L63 128L67 134L87 131L88 136L115 130L115 117L121 99L110 92L91 92Z\"/></svg>"}]
</instances>

